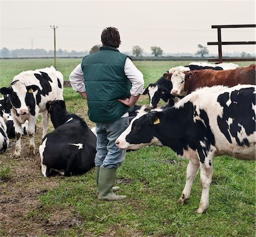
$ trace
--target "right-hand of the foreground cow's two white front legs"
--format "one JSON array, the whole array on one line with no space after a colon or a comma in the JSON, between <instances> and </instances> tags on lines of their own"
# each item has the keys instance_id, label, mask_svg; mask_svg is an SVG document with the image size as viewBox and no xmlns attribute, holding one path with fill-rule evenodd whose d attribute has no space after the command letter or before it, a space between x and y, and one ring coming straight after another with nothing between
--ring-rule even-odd
<instances>
[{"instance_id":1,"label":"right-hand of the foreground cow's two white front legs","mask_svg":"<svg viewBox=\"0 0 256 237\"><path fill-rule=\"evenodd\" d=\"M209 153L205 156L204 163L200 160L200 180L202 185L202 195L197 209L197 213L204 213L209 206L209 189L210 183L212 182L212 172L213 172L213 157L214 154Z\"/></svg>"}]
</instances>

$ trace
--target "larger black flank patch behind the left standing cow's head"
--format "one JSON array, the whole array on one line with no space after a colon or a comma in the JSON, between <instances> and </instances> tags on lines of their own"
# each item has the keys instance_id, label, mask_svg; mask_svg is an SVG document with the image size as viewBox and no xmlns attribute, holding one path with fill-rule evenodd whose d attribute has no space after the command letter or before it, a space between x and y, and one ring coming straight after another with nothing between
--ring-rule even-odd
<instances>
[{"instance_id":1,"label":"larger black flank patch behind the left standing cow's head","mask_svg":"<svg viewBox=\"0 0 256 237\"><path fill-rule=\"evenodd\" d=\"M46 96L49 95L49 92L52 91L51 84L49 82L52 82L52 79L48 76L47 73L44 73L43 71L40 71L41 75L38 73L34 73L35 77L39 80L43 90L38 90L38 94L36 94L36 104L39 105L42 99L42 95Z\"/></svg>"}]
</instances>

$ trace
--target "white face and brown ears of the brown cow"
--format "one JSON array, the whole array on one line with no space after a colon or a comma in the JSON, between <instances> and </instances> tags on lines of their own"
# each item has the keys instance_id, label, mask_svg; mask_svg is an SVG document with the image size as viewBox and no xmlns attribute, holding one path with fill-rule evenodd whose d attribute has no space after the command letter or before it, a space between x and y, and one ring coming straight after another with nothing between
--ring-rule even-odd
<instances>
[{"instance_id":1,"label":"white face and brown ears of the brown cow","mask_svg":"<svg viewBox=\"0 0 256 237\"><path fill-rule=\"evenodd\" d=\"M185 81L189 81L192 78L191 71L176 70L174 73L165 73L164 79L172 82L171 94L174 96L187 95L187 88L185 88Z\"/></svg>"}]
</instances>

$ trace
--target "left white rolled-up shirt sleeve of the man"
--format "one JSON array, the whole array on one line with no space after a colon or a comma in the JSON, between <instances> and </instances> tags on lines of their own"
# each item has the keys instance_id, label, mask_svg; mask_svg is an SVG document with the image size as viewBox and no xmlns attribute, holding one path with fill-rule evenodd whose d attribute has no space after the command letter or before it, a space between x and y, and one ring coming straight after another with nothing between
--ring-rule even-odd
<instances>
[{"instance_id":1,"label":"left white rolled-up shirt sleeve of the man","mask_svg":"<svg viewBox=\"0 0 256 237\"><path fill-rule=\"evenodd\" d=\"M84 72L82 71L81 64L77 65L76 68L69 75L69 82L76 92L85 92L84 84Z\"/></svg>"}]
</instances>

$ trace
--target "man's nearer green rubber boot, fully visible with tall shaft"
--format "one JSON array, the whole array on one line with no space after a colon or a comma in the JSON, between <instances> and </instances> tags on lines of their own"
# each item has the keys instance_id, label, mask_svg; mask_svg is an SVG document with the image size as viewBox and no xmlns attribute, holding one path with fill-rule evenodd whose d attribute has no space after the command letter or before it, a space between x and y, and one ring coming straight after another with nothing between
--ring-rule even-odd
<instances>
[{"instance_id":1,"label":"man's nearer green rubber boot, fully visible with tall shaft","mask_svg":"<svg viewBox=\"0 0 256 237\"><path fill-rule=\"evenodd\" d=\"M115 183L116 168L100 167L98 175L98 199L106 201L123 200L125 195L115 195L113 193L113 185Z\"/></svg>"}]
</instances>

